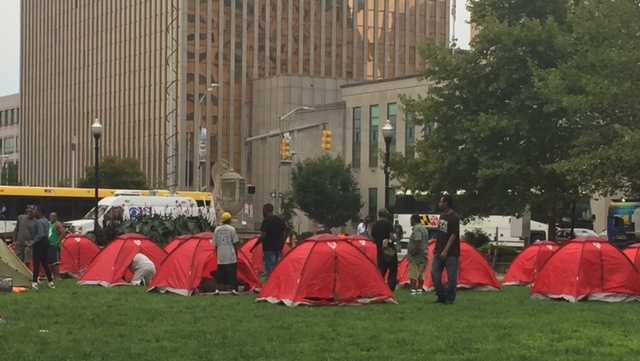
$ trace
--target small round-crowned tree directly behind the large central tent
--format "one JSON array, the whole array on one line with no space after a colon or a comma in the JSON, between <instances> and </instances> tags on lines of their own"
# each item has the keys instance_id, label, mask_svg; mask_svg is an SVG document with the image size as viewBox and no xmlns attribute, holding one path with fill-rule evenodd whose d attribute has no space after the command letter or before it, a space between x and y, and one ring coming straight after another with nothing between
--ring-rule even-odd
<instances>
[{"instance_id":1,"label":"small round-crowned tree directly behind the large central tent","mask_svg":"<svg viewBox=\"0 0 640 361\"><path fill-rule=\"evenodd\" d=\"M340 227L358 219L360 190L342 158L323 155L296 164L291 185L295 203L323 226Z\"/></svg>"}]
</instances>

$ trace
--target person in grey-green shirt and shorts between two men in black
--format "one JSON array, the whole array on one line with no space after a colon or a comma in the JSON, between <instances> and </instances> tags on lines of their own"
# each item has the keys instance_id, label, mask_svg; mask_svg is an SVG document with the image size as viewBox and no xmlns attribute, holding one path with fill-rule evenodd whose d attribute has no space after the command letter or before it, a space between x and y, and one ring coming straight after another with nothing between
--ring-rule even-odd
<instances>
[{"instance_id":1,"label":"person in grey-green shirt and shorts between two men in black","mask_svg":"<svg viewBox=\"0 0 640 361\"><path fill-rule=\"evenodd\" d=\"M407 247L409 257L409 280L411 283L411 294L421 294L424 289L423 274L424 266L427 263L427 243L429 242L429 232L420 222L420 216L411 216L411 238Z\"/></svg>"}]
</instances>

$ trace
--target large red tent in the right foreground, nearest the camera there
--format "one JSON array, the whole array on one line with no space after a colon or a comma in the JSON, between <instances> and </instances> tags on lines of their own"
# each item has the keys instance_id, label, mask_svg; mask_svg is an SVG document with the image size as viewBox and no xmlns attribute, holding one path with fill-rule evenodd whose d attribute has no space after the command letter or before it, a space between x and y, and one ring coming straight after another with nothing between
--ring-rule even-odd
<instances>
[{"instance_id":1,"label":"large red tent in the right foreground, nearest the camera there","mask_svg":"<svg viewBox=\"0 0 640 361\"><path fill-rule=\"evenodd\" d=\"M609 242L578 239L560 248L538 273L536 298L620 302L640 296L640 274Z\"/></svg>"}]
</instances>

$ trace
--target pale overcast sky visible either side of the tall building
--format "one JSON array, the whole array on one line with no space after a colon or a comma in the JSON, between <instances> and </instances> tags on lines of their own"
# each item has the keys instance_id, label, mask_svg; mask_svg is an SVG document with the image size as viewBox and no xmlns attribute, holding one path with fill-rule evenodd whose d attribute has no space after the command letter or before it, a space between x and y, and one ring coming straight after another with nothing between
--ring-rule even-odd
<instances>
[{"instance_id":1,"label":"pale overcast sky visible either side of the tall building","mask_svg":"<svg viewBox=\"0 0 640 361\"><path fill-rule=\"evenodd\" d=\"M48 1L48 0L41 0ZM461 47L469 44L469 13L458 0L456 37ZM20 0L0 0L0 96L17 93L20 88Z\"/></svg>"}]
</instances>

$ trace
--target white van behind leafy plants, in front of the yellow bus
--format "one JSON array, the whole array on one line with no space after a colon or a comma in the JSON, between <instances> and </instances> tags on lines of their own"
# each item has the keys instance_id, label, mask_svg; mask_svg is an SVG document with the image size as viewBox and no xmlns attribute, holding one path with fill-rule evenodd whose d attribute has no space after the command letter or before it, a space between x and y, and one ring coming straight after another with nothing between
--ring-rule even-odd
<instances>
[{"instance_id":1,"label":"white van behind leafy plants, in front of the yellow bus","mask_svg":"<svg viewBox=\"0 0 640 361\"><path fill-rule=\"evenodd\" d=\"M105 217L117 217L122 220L136 218L142 215L157 214L161 216L177 217L180 215L204 215L215 220L213 208L199 208L193 198L177 196L140 196L121 195L105 197L98 202L98 224L104 225ZM82 219L65 223L65 227L73 233L87 234L93 232L95 208L90 210Z\"/></svg>"}]
</instances>

